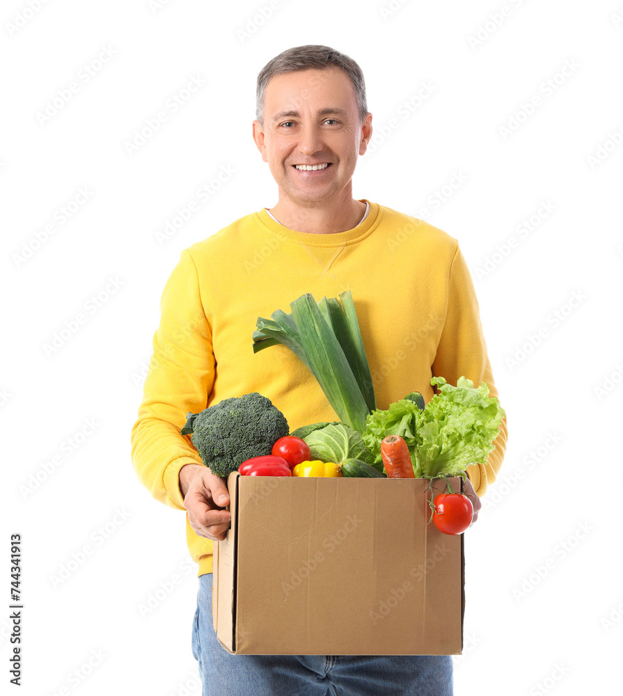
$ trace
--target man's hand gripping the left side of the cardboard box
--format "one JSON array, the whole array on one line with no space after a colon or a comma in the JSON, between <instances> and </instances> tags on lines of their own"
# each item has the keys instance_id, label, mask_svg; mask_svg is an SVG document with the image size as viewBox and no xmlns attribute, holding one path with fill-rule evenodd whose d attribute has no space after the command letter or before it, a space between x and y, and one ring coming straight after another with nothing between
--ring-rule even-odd
<instances>
[{"instance_id":1,"label":"man's hand gripping the left side of the cardboard box","mask_svg":"<svg viewBox=\"0 0 623 696\"><path fill-rule=\"evenodd\" d=\"M196 535L223 541L231 525L229 494L223 479L203 464L186 464L180 469L180 491L188 521Z\"/></svg>"}]
</instances>

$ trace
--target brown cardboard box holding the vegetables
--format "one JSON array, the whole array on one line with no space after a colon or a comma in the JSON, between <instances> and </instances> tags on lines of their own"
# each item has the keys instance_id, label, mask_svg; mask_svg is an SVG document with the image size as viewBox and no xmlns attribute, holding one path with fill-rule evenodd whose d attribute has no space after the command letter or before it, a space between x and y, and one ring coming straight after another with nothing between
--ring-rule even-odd
<instances>
[{"instance_id":1,"label":"brown cardboard box holding the vegetables","mask_svg":"<svg viewBox=\"0 0 623 696\"><path fill-rule=\"evenodd\" d=\"M460 478L450 479L455 491ZM450 655L463 644L463 535L427 481L228 477L212 610L235 654ZM436 491L445 484L435 482Z\"/></svg>"}]
</instances>

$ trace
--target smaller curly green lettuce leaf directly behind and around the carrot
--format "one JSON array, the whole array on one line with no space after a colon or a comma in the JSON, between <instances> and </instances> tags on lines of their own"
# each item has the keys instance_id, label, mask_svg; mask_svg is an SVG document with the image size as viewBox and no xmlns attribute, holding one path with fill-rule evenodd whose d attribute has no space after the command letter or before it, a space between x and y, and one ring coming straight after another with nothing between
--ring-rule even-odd
<instances>
[{"instance_id":1,"label":"smaller curly green lettuce leaf directly behind and around the carrot","mask_svg":"<svg viewBox=\"0 0 623 696\"><path fill-rule=\"evenodd\" d=\"M422 475L416 455L418 444L418 427L423 421L422 411L410 399L401 399L390 404L385 411L372 411L366 420L366 430L363 441L368 450L374 455L374 464L381 466L381 441L388 435L399 435L407 443L413 473L416 477Z\"/></svg>"}]
</instances>

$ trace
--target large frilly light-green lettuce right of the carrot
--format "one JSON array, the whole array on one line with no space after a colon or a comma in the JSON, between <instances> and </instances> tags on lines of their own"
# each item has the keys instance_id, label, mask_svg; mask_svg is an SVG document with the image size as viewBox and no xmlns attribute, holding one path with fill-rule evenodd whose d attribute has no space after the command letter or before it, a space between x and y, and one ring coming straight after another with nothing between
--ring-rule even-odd
<instances>
[{"instance_id":1,"label":"large frilly light-green lettuce right of the carrot","mask_svg":"<svg viewBox=\"0 0 623 696\"><path fill-rule=\"evenodd\" d=\"M422 474L464 476L470 464L484 464L494 450L505 413L498 400L489 397L484 383L474 388L471 379L459 377L457 386L452 386L443 377L433 377L431 384L439 388L439 394L426 404L418 427Z\"/></svg>"}]
</instances>

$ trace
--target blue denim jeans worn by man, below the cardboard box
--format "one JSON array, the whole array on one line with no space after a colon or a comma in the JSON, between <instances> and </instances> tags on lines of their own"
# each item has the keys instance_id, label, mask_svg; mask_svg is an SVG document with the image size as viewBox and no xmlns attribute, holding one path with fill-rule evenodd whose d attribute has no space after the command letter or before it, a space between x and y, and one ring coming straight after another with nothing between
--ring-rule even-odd
<instances>
[{"instance_id":1,"label":"blue denim jeans worn by man, below the cardboard box","mask_svg":"<svg viewBox=\"0 0 623 696\"><path fill-rule=\"evenodd\" d=\"M203 696L452 696L448 655L232 655L212 626L212 573L199 577L193 654Z\"/></svg>"}]
</instances>

